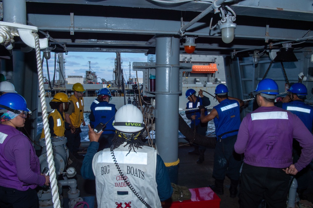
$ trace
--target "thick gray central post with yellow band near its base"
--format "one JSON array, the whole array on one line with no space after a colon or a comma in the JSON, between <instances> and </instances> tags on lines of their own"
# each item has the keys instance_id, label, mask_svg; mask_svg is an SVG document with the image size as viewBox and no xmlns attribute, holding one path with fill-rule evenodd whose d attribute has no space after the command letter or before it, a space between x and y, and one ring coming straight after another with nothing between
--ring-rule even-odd
<instances>
[{"instance_id":1,"label":"thick gray central post with yellow band near its base","mask_svg":"<svg viewBox=\"0 0 313 208\"><path fill-rule=\"evenodd\" d=\"M178 160L179 38L156 37L156 146L165 163ZM178 164L167 167L177 183Z\"/></svg>"}]
</instances>

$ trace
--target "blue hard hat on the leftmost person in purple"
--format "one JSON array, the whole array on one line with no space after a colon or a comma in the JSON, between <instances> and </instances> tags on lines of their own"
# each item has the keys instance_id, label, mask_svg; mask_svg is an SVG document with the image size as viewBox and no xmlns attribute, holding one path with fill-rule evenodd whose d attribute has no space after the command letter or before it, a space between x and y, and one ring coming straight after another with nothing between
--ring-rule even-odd
<instances>
[{"instance_id":1,"label":"blue hard hat on the leftmost person in purple","mask_svg":"<svg viewBox=\"0 0 313 208\"><path fill-rule=\"evenodd\" d=\"M17 93L6 93L0 96L0 109L22 110L29 112L25 99Z\"/></svg>"}]
</instances>

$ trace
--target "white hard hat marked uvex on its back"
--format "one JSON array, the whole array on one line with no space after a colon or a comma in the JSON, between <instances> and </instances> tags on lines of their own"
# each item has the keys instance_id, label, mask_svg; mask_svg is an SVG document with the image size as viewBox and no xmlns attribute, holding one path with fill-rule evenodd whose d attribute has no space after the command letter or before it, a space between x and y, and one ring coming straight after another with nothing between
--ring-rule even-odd
<instances>
[{"instance_id":1,"label":"white hard hat marked uvex on its back","mask_svg":"<svg viewBox=\"0 0 313 208\"><path fill-rule=\"evenodd\" d=\"M115 113L113 126L116 130L126 133L141 131L144 128L142 113L132 104L122 106Z\"/></svg>"}]
</instances>

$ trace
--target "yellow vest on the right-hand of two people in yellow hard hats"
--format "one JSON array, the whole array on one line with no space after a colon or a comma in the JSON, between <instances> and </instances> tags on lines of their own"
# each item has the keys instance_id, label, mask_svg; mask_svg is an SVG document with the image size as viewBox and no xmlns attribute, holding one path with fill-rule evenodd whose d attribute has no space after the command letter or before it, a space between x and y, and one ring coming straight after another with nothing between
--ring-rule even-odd
<instances>
[{"instance_id":1,"label":"yellow vest on the right-hand of two people in yellow hard hats","mask_svg":"<svg viewBox=\"0 0 313 208\"><path fill-rule=\"evenodd\" d=\"M69 115L69 118L71 119L73 126L78 128L84 120L84 99L80 97L79 100L77 100L75 95L71 95L69 101L74 103L75 108L74 112Z\"/></svg>"}]
</instances>

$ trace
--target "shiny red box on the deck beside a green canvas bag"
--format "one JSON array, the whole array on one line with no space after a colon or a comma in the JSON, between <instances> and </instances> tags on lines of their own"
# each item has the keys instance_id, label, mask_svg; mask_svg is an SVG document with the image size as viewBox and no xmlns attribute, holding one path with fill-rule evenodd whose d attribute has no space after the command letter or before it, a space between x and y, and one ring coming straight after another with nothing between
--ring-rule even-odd
<instances>
[{"instance_id":1,"label":"shiny red box on the deck beside a green canvas bag","mask_svg":"<svg viewBox=\"0 0 313 208\"><path fill-rule=\"evenodd\" d=\"M210 207L219 208L221 199L209 187L189 189L191 199L182 202L165 202L162 208Z\"/></svg>"}]
</instances>

